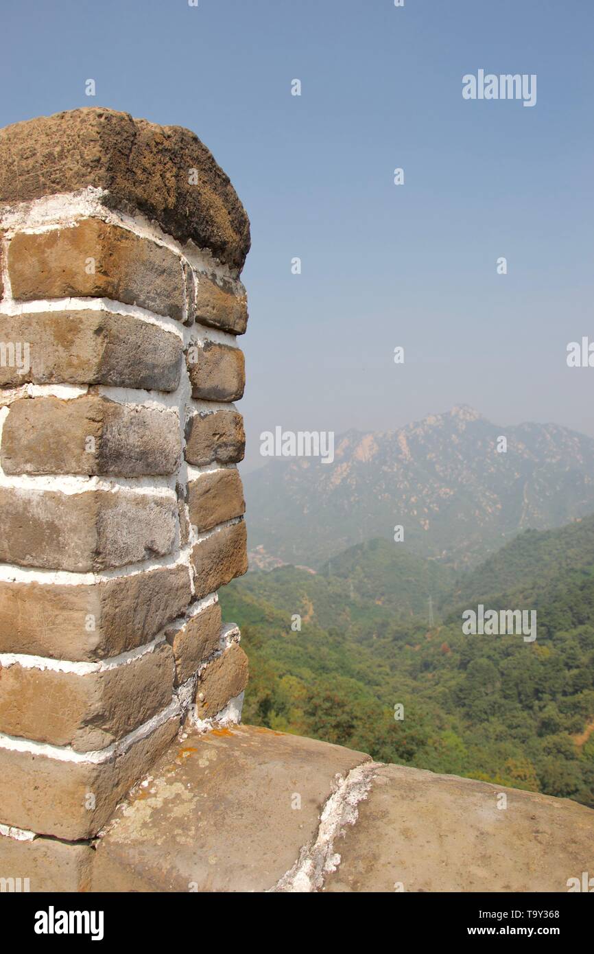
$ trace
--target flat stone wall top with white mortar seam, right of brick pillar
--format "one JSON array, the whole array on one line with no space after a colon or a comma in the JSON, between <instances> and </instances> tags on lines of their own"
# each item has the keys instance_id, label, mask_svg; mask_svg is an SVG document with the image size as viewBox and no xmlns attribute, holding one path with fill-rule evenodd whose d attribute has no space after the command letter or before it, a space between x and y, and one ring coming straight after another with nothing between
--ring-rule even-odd
<instances>
[{"instance_id":1,"label":"flat stone wall top with white mortar seam, right of brick pillar","mask_svg":"<svg viewBox=\"0 0 594 954\"><path fill-rule=\"evenodd\" d=\"M174 744L92 867L94 891L567 891L594 811L233 726Z\"/></svg>"}]
</instances>

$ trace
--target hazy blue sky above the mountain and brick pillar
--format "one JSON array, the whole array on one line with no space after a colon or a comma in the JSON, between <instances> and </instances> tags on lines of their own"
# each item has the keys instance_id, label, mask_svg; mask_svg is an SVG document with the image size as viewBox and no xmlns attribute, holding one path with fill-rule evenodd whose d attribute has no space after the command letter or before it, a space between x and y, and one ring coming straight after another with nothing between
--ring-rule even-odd
<instances>
[{"instance_id":1,"label":"hazy blue sky above the mountain and brick pillar","mask_svg":"<svg viewBox=\"0 0 594 954\"><path fill-rule=\"evenodd\" d=\"M253 236L249 462L275 425L384 430L461 403L594 435L594 368L565 363L594 340L591 0L0 10L1 125L110 106L189 127L231 176ZM536 105L464 100L480 69L536 73Z\"/></svg>"}]
</instances>

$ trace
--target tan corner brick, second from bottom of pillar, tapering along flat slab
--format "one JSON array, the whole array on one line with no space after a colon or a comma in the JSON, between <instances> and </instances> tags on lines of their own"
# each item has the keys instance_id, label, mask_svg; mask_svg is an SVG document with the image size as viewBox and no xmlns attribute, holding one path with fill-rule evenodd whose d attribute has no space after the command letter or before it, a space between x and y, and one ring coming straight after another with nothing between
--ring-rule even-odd
<instances>
[{"instance_id":1,"label":"tan corner brick, second from bottom of pillar, tapering along flat slab","mask_svg":"<svg viewBox=\"0 0 594 954\"><path fill-rule=\"evenodd\" d=\"M92 838L178 731L179 716L171 716L101 762L0 747L0 824L70 841Z\"/></svg>"}]
</instances>

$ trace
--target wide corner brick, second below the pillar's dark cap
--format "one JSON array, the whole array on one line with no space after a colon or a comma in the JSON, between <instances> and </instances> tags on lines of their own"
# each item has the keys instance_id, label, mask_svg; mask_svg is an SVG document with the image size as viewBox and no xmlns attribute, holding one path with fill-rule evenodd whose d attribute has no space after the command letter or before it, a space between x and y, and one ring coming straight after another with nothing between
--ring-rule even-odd
<instances>
[{"instance_id":1,"label":"wide corner brick, second below the pillar's dark cap","mask_svg":"<svg viewBox=\"0 0 594 954\"><path fill-rule=\"evenodd\" d=\"M0 356L2 387L32 382L174 391L179 384L181 339L127 315L94 310L0 315L0 342L17 347L14 356L10 350Z\"/></svg>"}]
</instances>

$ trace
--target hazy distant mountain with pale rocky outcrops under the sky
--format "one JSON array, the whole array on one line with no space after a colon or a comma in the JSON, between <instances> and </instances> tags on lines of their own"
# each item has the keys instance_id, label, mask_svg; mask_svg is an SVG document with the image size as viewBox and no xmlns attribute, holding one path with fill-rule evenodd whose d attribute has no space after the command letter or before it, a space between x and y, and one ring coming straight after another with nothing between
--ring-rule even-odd
<instances>
[{"instance_id":1,"label":"hazy distant mountain with pale rocky outcrops under the sky","mask_svg":"<svg viewBox=\"0 0 594 954\"><path fill-rule=\"evenodd\" d=\"M497 450L498 439L507 451ZM373 537L465 568L522 529L594 511L594 440L558 425L493 425L466 406L338 437L333 464L275 459L245 476L250 548L319 567Z\"/></svg>"}]
</instances>

